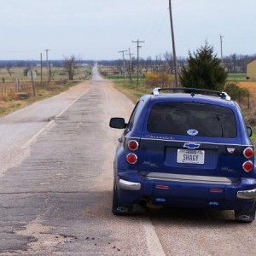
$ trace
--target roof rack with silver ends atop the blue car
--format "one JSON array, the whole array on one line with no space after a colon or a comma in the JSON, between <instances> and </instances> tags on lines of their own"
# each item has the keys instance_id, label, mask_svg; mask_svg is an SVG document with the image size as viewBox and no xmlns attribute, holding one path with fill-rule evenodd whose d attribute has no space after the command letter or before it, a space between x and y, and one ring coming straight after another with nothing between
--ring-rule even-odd
<instances>
[{"instance_id":1,"label":"roof rack with silver ends atop the blue car","mask_svg":"<svg viewBox=\"0 0 256 256\"><path fill-rule=\"evenodd\" d=\"M190 93L191 96L195 96L195 94L206 94L206 95L216 95L227 101L231 100L230 96L224 91L206 90L206 89L188 88L188 87L173 87L173 88L157 87L157 88L154 88L154 90L152 91L152 94L154 96L160 96L160 90L173 90L173 91L181 90L184 93Z\"/></svg>"}]
</instances>

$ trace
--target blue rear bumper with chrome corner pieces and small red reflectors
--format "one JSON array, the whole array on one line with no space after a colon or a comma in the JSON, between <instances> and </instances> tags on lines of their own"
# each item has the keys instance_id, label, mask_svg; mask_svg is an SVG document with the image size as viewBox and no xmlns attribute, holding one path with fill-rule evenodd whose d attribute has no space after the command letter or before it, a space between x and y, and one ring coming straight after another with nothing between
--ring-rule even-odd
<instances>
[{"instance_id":1,"label":"blue rear bumper with chrome corner pieces and small red reflectors","mask_svg":"<svg viewBox=\"0 0 256 256\"><path fill-rule=\"evenodd\" d=\"M256 199L256 179L236 183L189 183L141 177L137 172L119 172L119 199L137 204L147 198L154 204L178 207L214 207L246 210Z\"/></svg>"}]
</instances>

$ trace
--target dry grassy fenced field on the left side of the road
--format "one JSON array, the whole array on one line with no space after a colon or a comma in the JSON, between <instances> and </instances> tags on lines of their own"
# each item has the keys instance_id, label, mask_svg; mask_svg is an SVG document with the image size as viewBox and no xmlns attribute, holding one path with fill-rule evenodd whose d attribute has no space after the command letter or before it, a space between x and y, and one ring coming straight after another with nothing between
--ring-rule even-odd
<instances>
[{"instance_id":1,"label":"dry grassy fenced field on the left side of the road","mask_svg":"<svg viewBox=\"0 0 256 256\"><path fill-rule=\"evenodd\" d=\"M91 67L79 67L74 81L67 80L67 73L61 67L51 67L51 81L47 81L47 69L38 67L38 75L32 80L25 74L25 67L0 68L0 116L24 108L32 102L55 96L79 81L90 79Z\"/></svg>"}]
</instances>

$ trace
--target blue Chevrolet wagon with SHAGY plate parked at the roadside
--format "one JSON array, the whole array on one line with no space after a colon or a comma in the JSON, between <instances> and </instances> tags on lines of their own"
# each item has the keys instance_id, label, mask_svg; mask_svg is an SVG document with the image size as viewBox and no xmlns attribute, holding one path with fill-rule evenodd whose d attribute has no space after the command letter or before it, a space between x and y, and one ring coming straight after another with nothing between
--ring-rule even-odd
<instances>
[{"instance_id":1,"label":"blue Chevrolet wagon with SHAGY plate parked at the roadside","mask_svg":"<svg viewBox=\"0 0 256 256\"><path fill-rule=\"evenodd\" d=\"M224 92L156 88L142 96L113 162L113 214L134 205L234 210L255 218L256 172L251 127Z\"/></svg>"}]
</instances>

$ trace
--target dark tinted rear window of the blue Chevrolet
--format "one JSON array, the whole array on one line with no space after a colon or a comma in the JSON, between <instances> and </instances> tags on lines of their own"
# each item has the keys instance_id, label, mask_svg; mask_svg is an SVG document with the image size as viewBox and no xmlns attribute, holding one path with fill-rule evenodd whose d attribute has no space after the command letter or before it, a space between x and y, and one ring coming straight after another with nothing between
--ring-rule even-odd
<instances>
[{"instance_id":1,"label":"dark tinted rear window of the blue Chevrolet","mask_svg":"<svg viewBox=\"0 0 256 256\"><path fill-rule=\"evenodd\" d=\"M230 108L212 104L165 102L151 108L148 131L187 135L196 130L202 137L236 137L236 118Z\"/></svg>"}]
</instances>

